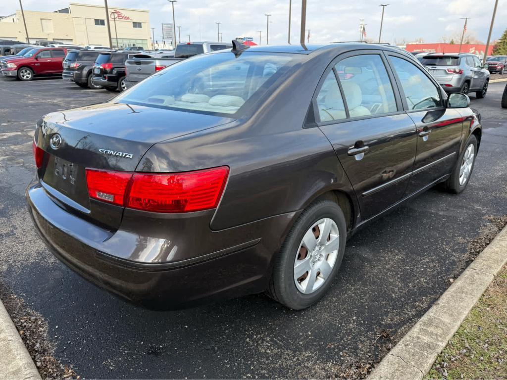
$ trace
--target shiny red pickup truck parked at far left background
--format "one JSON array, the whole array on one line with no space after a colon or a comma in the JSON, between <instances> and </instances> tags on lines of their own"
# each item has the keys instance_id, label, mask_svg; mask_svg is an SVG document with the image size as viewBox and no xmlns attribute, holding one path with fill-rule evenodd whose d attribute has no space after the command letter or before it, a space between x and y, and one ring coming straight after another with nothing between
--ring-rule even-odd
<instances>
[{"instance_id":1,"label":"shiny red pickup truck parked at far left background","mask_svg":"<svg viewBox=\"0 0 507 380\"><path fill-rule=\"evenodd\" d=\"M34 48L23 57L2 61L0 71L22 81L31 81L35 75L61 75L66 55L65 48Z\"/></svg>"}]
</instances>

